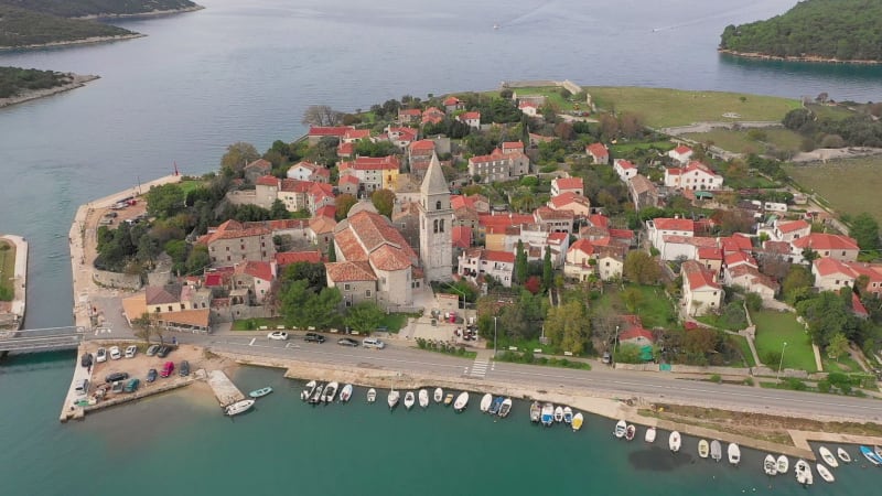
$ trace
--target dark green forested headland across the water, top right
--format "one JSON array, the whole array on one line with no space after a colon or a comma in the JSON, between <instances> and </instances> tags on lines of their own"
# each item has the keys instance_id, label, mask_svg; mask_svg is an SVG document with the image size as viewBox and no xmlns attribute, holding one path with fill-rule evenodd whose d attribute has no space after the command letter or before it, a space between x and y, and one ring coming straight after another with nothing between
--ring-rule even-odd
<instances>
[{"instance_id":1,"label":"dark green forested headland across the water, top right","mask_svg":"<svg viewBox=\"0 0 882 496\"><path fill-rule=\"evenodd\" d=\"M720 50L783 58L882 62L882 0L805 0L783 15L729 25Z\"/></svg>"}]
</instances>

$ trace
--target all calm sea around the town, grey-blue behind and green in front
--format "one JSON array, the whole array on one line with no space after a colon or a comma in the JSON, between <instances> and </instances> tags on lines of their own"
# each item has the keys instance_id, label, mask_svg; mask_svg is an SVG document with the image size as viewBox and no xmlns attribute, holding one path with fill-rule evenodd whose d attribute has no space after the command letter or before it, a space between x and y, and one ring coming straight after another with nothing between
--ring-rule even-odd
<instances>
[{"instance_id":1,"label":"all calm sea around the town, grey-blue behind and green in front","mask_svg":"<svg viewBox=\"0 0 882 496\"><path fill-rule=\"evenodd\" d=\"M793 1L202 3L207 9L195 13L118 23L149 35L139 40L0 53L0 65L101 76L0 109L0 231L31 241L28 327L72 322L66 237L77 205L168 174L175 161L185 173L215 170L235 141L263 150L290 140L303 132L309 105L355 110L406 94L533 78L882 99L880 67L717 54L727 24L768 18ZM533 429L523 406L498 423L441 409L313 410L280 373L259 369L241 374L243 389L272 384L281 391L235 424L213 399L184 392L60 425L73 358L0 366L0 494L770 490L753 453L739 470L691 464L612 442L609 421L592 418L579 434ZM882 477L869 472L840 470L838 492L811 492L857 494ZM773 490L797 494L790 479L775 481Z\"/></svg>"}]
</instances>

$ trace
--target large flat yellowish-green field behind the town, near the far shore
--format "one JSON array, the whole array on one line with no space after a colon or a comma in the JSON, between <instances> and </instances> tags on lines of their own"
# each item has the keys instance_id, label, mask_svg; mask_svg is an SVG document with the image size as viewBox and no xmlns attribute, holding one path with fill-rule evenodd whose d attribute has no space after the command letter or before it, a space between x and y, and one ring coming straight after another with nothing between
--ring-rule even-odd
<instances>
[{"instance_id":1,"label":"large flat yellowish-green field behind the town, near the far shore","mask_svg":"<svg viewBox=\"0 0 882 496\"><path fill-rule=\"evenodd\" d=\"M584 89L598 107L638 114L647 126L655 128L731 121L733 119L723 117L729 112L741 116L739 120L781 121L785 114L799 107L799 101L794 99L738 93L610 86Z\"/></svg>"}]
</instances>

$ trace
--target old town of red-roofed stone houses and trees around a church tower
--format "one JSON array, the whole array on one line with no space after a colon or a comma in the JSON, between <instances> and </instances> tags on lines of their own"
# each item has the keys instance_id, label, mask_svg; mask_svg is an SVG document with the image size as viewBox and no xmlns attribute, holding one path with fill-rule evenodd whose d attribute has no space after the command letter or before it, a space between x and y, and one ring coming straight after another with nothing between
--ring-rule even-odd
<instances>
[{"instance_id":1,"label":"old town of red-roofed stone houses and trees around a church tower","mask_svg":"<svg viewBox=\"0 0 882 496\"><path fill-rule=\"evenodd\" d=\"M313 106L303 123L101 214L96 280L136 290L135 328L873 378L875 220L846 226L774 157L662 132L569 82Z\"/></svg>"}]
</instances>

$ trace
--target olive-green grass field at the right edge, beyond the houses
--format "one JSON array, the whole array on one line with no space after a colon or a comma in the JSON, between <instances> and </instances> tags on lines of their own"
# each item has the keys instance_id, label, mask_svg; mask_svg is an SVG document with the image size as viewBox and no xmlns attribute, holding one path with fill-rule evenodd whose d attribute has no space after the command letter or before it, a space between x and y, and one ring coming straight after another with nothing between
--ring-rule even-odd
<instances>
[{"instance_id":1,"label":"olive-green grass field at the right edge, beyond the houses","mask_svg":"<svg viewBox=\"0 0 882 496\"><path fill-rule=\"evenodd\" d=\"M807 192L815 192L839 213L867 212L882 223L882 157L867 157L811 165L784 165L790 177Z\"/></svg>"}]
</instances>

